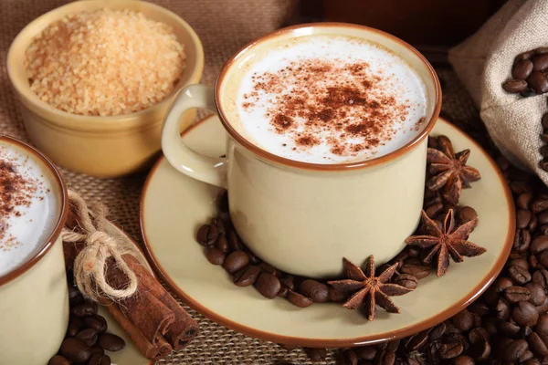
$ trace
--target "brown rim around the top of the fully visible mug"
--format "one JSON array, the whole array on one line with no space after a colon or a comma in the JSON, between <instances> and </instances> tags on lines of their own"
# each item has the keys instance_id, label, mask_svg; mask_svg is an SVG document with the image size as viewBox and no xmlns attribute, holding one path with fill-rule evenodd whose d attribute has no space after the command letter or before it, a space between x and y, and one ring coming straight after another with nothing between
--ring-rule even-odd
<instances>
[{"instance_id":1,"label":"brown rim around the top of the fully visible mug","mask_svg":"<svg viewBox=\"0 0 548 365\"><path fill-rule=\"evenodd\" d=\"M298 162L294 160L287 159L285 157L278 156L274 153L270 153L269 151L263 150L257 145L251 143L250 141L246 140L244 136L242 136L232 125L227 121L227 116L225 115L225 112L220 107L220 88L219 85L221 85L227 76L228 69L232 67L233 64L236 63L236 59L240 57L242 54L248 51L249 48L256 46L258 43L272 38L272 37L278 37L283 36L285 34L288 34L295 29L305 28L305 27L345 27L345 28L358 28L362 30L366 30L369 32L374 32L377 34L380 34L381 36L385 36L386 38L389 38L396 43L399 43L403 47L406 47L411 53L415 54L416 57L418 57L423 64L427 67L428 72L430 73L430 77L434 80L435 84L435 100L436 104L434 107L434 110L432 112L432 117L430 120L428 120L427 126L422 130L414 139L413 141L408 142L405 146L392 151L390 153L387 153L383 156L376 157L374 159L359 161L359 162L347 162L347 163L336 163L336 164L323 164L323 163L311 163L311 162ZM257 38L256 40L248 43L248 45L242 47L240 50L237 51L237 53L230 57L221 69L221 72L216 80L215 85L215 104L216 104L216 110L219 115L219 120L223 123L223 126L225 127L225 130L227 130L228 134L237 141L238 144L245 147L248 151L251 151L258 155L259 157L268 160L270 162L286 165L293 168L298 169L306 169L306 170L314 170L314 171L348 171L348 170L357 170L357 169L363 169L366 167L372 167L375 165L379 165L385 162L390 162L398 157L406 154L407 152L413 150L421 141L423 141L425 138L427 138L428 134L430 133L430 130L434 128L434 125L436 124L437 117L439 116L439 111L441 110L441 86L439 84L439 79L437 78L436 71L434 68L432 68L432 65L427 61L427 58L424 57L420 52L416 50L415 47L412 47L405 41L401 40L400 38L396 36L392 36L391 34L385 33L382 30L378 30L369 26L359 26L355 24L347 24L347 23L309 23L309 24L302 24L298 26L288 26L279 30L276 30L274 32L271 32L265 36L261 36Z\"/></svg>"}]
</instances>

